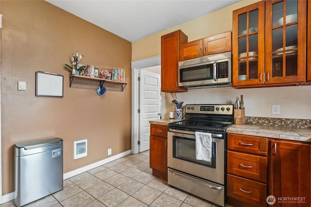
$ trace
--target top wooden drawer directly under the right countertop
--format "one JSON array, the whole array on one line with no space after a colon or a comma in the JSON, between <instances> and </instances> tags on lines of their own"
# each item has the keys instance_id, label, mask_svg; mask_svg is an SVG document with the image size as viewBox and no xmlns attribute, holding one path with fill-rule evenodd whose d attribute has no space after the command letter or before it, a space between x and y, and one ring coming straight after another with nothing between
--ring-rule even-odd
<instances>
[{"instance_id":1,"label":"top wooden drawer directly under the right countertop","mask_svg":"<svg viewBox=\"0 0 311 207\"><path fill-rule=\"evenodd\" d=\"M268 155L267 138L248 135L228 134L228 149L254 153L258 155Z\"/></svg>"}]
</instances>

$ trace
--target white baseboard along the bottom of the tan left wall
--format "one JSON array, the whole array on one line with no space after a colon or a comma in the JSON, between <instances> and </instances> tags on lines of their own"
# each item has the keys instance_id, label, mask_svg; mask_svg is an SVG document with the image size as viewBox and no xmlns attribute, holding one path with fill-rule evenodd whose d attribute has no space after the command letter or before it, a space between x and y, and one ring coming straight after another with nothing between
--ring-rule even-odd
<instances>
[{"instance_id":1,"label":"white baseboard along the bottom of the tan left wall","mask_svg":"<svg viewBox=\"0 0 311 207\"><path fill-rule=\"evenodd\" d=\"M106 164L108 162L111 162L113 160L122 158L122 157L124 157L126 155L129 155L131 153L132 153L132 150L127 150L127 151L122 152L122 153L120 153L118 155L114 155L114 156L111 156L109 158L100 160L98 162L94 162L92 164L89 164L89 165L86 165L84 167L78 168L76 170L70 171L68 173L64 173L63 179L66 180L69 177L73 177L75 175L79 175L81 173L84 173L84 172L89 171L89 170L91 170L93 168L99 167L99 166L101 166L103 164ZM15 199L15 193L14 192L10 192L10 193L8 193L6 195L2 195L2 197L1 197L1 204L4 204L4 203L9 202L9 201L14 200L14 199Z\"/></svg>"}]
</instances>

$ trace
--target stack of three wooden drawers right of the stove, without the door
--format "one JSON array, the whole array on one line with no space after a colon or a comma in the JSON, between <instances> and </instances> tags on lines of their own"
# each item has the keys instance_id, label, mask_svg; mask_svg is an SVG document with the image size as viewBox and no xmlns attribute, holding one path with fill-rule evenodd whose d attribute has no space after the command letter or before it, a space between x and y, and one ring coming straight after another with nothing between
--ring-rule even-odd
<instances>
[{"instance_id":1,"label":"stack of three wooden drawers right of the stove, without the door","mask_svg":"<svg viewBox=\"0 0 311 207\"><path fill-rule=\"evenodd\" d=\"M227 203L234 207L267 205L267 138L227 135Z\"/></svg>"}]
</instances>

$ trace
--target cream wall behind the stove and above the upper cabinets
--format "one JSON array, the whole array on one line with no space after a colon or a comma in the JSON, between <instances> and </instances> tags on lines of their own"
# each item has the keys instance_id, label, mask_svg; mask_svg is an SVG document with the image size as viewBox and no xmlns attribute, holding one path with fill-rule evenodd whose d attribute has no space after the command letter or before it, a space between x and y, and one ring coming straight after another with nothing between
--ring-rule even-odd
<instances>
[{"instance_id":1,"label":"cream wall behind the stove and above the upper cabinets","mask_svg":"<svg viewBox=\"0 0 311 207\"><path fill-rule=\"evenodd\" d=\"M259 0L243 0L211 14L201 16L168 30L158 32L132 43L132 61L150 58L161 53L161 35L182 30L188 41L232 30L232 11ZM311 119L311 86L275 87L258 89L209 88L177 93L185 104L233 104L236 96L244 95L245 115L273 118ZM166 94L166 113L173 111L172 97ZM280 105L281 113L272 114L272 104Z\"/></svg>"}]
</instances>

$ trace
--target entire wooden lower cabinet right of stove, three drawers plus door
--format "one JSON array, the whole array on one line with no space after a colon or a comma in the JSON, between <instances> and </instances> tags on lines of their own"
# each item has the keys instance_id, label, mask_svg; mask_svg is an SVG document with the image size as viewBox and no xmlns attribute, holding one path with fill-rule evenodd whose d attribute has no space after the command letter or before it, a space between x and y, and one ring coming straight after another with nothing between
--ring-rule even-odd
<instances>
[{"instance_id":1,"label":"entire wooden lower cabinet right of stove, three drawers plus door","mask_svg":"<svg viewBox=\"0 0 311 207\"><path fill-rule=\"evenodd\" d=\"M227 203L311 207L310 167L309 143L228 134Z\"/></svg>"}]
</instances>

